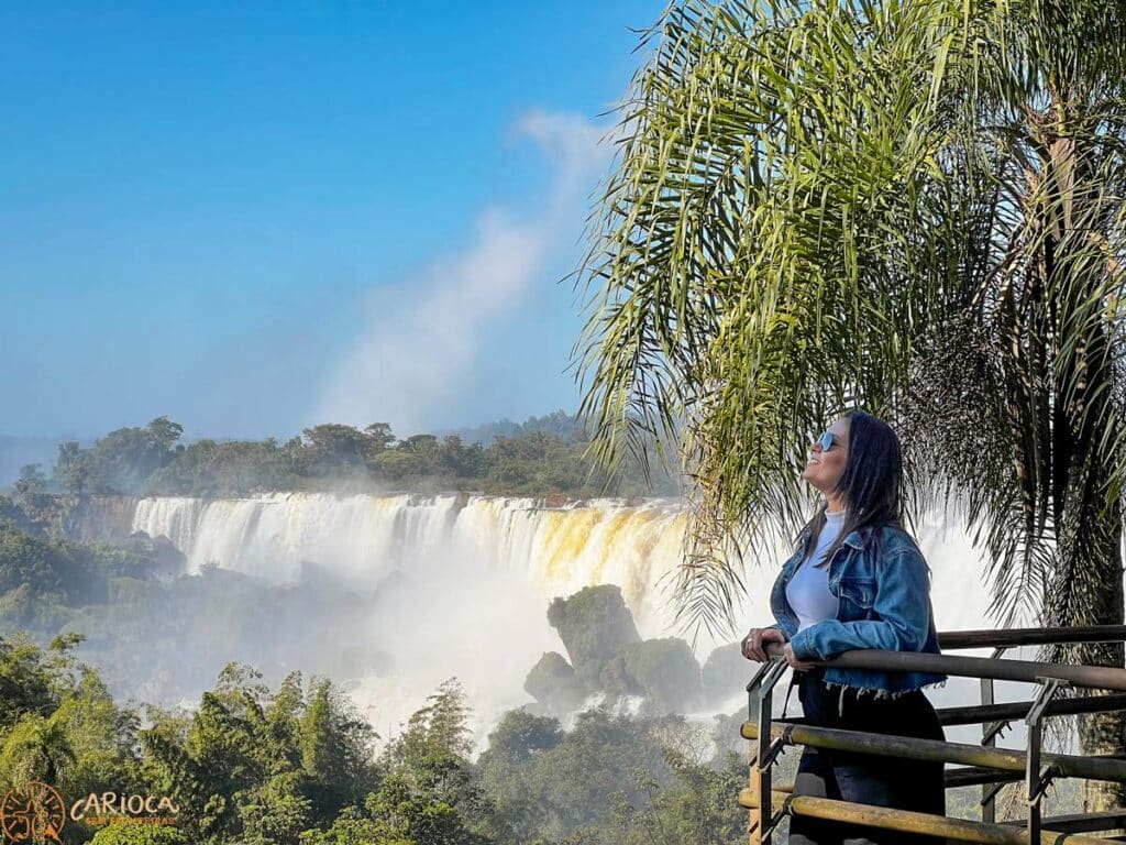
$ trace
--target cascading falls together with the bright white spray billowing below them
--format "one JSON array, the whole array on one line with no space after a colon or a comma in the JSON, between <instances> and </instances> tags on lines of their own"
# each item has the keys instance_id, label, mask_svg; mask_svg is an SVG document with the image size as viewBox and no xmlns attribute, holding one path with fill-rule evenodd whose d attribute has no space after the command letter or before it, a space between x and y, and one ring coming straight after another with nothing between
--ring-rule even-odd
<instances>
[{"instance_id":1,"label":"cascading falls together with the bright white spray billowing below them","mask_svg":"<svg viewBox=\"0 0 1126 845\"><path fill-rule=\"evenodd\" d=\"M386 736L456 675L477 713L480 741L503 709L529 701L522 682L540 655L564 650L546 622L556 596L614 584L643 637L673 633L663 579L679 562L685 519L669 501L549 508L482 496L271 493L140 499L133 530L168 537L189 572L214 563L294 584L316 571L372 595L399 573L395 601L373 605L369 624L355 633L356 643L377 646L393 662L378 675L352 676L352 695ZM924 522L918 539L932 570L938 626L986 625L980 555L965 533ZM779 563L785 557L775 555ZM745 626L770 621L775 573L749 573L751 595L739 613ZM714 644L697 643L701 661ZM733 679L736 695L741 683Z\"/></svg>"}]
</instances>

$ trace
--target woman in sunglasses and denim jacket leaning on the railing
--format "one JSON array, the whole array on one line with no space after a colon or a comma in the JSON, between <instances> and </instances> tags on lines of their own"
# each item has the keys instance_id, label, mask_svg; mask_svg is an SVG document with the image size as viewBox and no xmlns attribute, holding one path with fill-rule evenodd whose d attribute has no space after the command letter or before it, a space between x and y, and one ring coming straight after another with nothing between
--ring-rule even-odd
<instances>
[{"instance_id":1,"label":"woman in sunglasses and denim jacket leaning on the railing","mask_svg":"<svg viewBox=\"0 0 1126 845\"><path fill-rule=\"evenodd\" d=\"M802 530L770 596L777 624L756 628L743 656L784 644L811 724L944 739L921 688L929 673L815 668L851 649L938 653L927 562L900 524L903 460L888 426L863 411L838 419L813 445L802 478L825 504ZM946 811L941 763L806 748L794 793L904 810ZM795 817L790 845L929 843L876 828Z\"/></svg>"}]
</instances>

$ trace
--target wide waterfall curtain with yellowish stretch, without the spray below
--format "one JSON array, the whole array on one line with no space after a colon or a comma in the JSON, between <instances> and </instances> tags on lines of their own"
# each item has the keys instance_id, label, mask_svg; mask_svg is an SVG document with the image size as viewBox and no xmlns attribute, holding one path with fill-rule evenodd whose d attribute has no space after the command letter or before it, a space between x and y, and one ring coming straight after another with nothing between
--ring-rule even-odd
<instances>
[{"instance_id":1,"label":"wide waterfall curtain with yellowish stretch, without the spray below","mask_svg":"<svg viewBox=\"0 0 1126 845\"><path fill-rule=\"evenodd\" d=\"M546 603L595 584L623 590L643 633L667 635L667 582L686 524L676 504L613 499L544 507L486 496L268 493L247 499L154 497L136 501L133 531L164 536L196 573L214 563L276 584L315 563L357 588L440 558L450 567L507 572ZM980 555L965 532L923 522L919 543L932 570L939 628L986 624ZM779 550L777 560L785 558ZM748 612L767 610L776 570L751 573Z\"/></svg>"}]
</instances>

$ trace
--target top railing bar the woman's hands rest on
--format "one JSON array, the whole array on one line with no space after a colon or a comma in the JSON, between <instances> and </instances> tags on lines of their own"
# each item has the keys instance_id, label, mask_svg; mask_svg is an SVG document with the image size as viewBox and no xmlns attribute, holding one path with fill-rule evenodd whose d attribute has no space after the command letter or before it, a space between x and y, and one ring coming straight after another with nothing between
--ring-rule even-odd
<instances>
[{"instance_id":1,"label":"top railing bar the woman's hands rest on","mask_svg":"<svg viewBox=\"0 0 1126 845\"><path fill-rule=\"evenodd\" d=\"M783 658L783 646L770 643L771 657ZM1126 692L1126 669L1114 666L1072 666L1044 664L1035 660L1007 660L988 657L930 655L919 651L879 651L858 649L846 651L832 660L813 661L816 666L840 669L876 669L879 671L926 671L967 678L993 678L1035 684L1039 678L1052 677L1074 686L1092 690Z\"/></svg>"}]
</instances>

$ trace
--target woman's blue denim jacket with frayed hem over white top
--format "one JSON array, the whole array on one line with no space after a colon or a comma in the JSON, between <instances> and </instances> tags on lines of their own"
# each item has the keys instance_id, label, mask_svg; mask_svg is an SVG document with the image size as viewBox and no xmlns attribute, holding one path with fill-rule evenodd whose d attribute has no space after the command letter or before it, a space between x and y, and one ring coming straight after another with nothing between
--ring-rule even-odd
<instances>
[{"instance_id":1,"label":"woman's blue denim jacket with frayed hem over white top","mask_svg":"<svg viewBox=\"0 0 1126 845\"><path fill-rule=\"evenodd\" d=\"M914 540L896 525L861 528L844 537L829 562L829 592L839 599L837 619L797 632L786 585L805 559L812 533L798 537L770 593L774 625L801 660L828 660L852 649L939 653L927 562ZM924 671L877 671L826 667L825 684L896 695L946 681Z\"/></svg>"}]
</instances>

